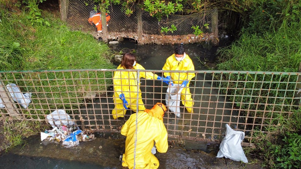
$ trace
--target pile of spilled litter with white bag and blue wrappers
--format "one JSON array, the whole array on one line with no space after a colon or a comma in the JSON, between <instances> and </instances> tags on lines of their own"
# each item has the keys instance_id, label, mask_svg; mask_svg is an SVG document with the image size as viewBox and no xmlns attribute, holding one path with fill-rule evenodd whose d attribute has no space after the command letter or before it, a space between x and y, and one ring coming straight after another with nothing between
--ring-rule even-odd
<instances>
[{"instance_id":1,"label":"pile of spilled litter with white bag and blue wrappers","mask_svg":"<svg viewBox=\"0 0 301 169\"><path fill-rule=\"evenodd\" d=\"M71 121L70 116L65 110L55 110L47 115L46 118L53 129L41 132L41 141L44 145L62 143L62 146L68 148L79 145L80 141L92 141L96 139L90 131L79 130L77 124Z\"/></svg>"}]
</instances>

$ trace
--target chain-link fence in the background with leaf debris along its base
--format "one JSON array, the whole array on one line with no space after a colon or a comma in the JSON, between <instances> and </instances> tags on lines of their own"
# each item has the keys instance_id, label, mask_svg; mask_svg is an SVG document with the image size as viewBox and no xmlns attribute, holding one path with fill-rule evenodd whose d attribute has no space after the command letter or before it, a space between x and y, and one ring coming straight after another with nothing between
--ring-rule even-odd
<instances>
[{"instance_id":1,"label":"chain-link fence in the background with leaf debris along its base","mask_svg":"<svg viewBox=\"0 0 301 169\"><path fill-rule=\"evenodd\" d=\"M95 26L88 23L90 12L94 10L95 5L98 6L92 1L63 0L60 5L61 18L74 30L91 32L96 38L102 37L103 34L97 33ZM139 44L192 43L208 40L218 43L217 9L189 15L170 14L168 17L162 17L160 21L150 16L148 12L142 11L141 8L133 7L132 10L133 14L126 16L121 5L109 6L107 38L132 38ZM172 25L176 30L168 31ZM194 33L196 29L192 26L199 26L197 30L203 33Z\"/></svg>"}]
</instances>

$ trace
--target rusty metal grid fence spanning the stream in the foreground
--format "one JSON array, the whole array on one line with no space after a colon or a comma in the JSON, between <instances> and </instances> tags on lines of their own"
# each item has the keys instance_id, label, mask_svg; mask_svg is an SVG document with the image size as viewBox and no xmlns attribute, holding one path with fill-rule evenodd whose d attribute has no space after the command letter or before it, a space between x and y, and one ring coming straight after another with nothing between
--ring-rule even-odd
<instances>
[{"instance_id":1,"label":"rusty metal grid fence spanning the stream in the foreground","mask_svg":"<svg viewBox=\"0 0 301 169\"><path fill-rule=\"evenodd\" d=\"M115 69L9 71L0 72L0 97L5 108L1 116L13 115L22 120L47 122L45 116L64 109L81 128L100 132L120 132L134 113L114 120L112 77ZM118 70L143 73L146 70ZM161 70L147 70L162 76ZM175 72L175 71L164 71ZM279 117L288 117L300 106L301 73L287 72L194 72L190 89L194 113L181 104L181 116L164 116L170 138L194 141L220 141L225 124L246 134L244 145L251 145L256 131L279 125ZM138 76L139 77L139 76ZM137 79L138 80L138 79ZM166 102L167 85L160 80L140 79L142 99L147 109ZM31 93L27 108L11 98L7 84L17 84L22 93ZM20 98L22 99L22 98ZM115 98L118 99L118 98ZM49 125L44 123L45 125Z\"/></svg>"}]
</instances>

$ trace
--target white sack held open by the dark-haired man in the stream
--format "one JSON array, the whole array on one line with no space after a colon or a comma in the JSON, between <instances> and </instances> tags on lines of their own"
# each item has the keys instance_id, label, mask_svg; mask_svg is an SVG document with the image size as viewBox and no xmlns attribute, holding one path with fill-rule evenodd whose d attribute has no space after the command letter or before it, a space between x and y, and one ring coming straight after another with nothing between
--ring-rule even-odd
<instances>
[{"instance_id":1,"label":"white sack held open by the dark-haired man in the stream","mask_svg":"<svg viewBox=\"0 0 301 169\"><path fill-rule=\"evenodd\" d=\"M171 112L174 112L176 116L180 117L180 102L181 102L181 92L185 87L184 84L173 84L168 86L165 100L166 106Z\"/></svg>"}]
</instances>

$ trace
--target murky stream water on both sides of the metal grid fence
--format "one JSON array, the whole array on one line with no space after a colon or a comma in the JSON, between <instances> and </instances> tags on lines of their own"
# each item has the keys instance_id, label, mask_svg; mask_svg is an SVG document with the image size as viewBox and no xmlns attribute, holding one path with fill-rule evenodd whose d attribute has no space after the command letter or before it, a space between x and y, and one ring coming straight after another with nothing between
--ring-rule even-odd
<instances>
[{"instance_id":1,"label":"murky stream water on both sides of the metal grid fence","mask_svg":"<svg viewBox=\"0 0 301 169\"><path fill-rule=\"evenodd\" d=\"M190 55L191 59L194 62L194 66L196 70L204 70L205 68L200 65L197 56L203 56L202 58L206 58L207 60L214 60L213 51L209 51L203 48L202 45L184 45L186 52ZM141 57L142 60L139 62L145 69L151 70L161 70L165 60L168 56L173 53L173 46L171 45L144 45L137 46L135 42L126 42L124 44L119 44L115 47L114 50L121 50L123 48L135 49L137 52L135 53L137 56ZM126 52L126 51L125 51ZM202 74L197 75L197 79L203 79ZM142 84L150 83L150 81L142 81ZM144 85L144 86L147 86ZM150 84L153 85L153 84ZM155 86L161 86L159 82L155 82ZM211 86L211 83L208 84L194 84L194 86L203 86L206 87ZM141 91L151 91L158 92L157 88L150 87L141 87ZM159 91L160 92L160 91ZM191 91L191 93L196 94L194 100L202 100L209 98L200 98L197 94L204 92L211 92L212 94L217 93L217 91ZM146 94L147 95L147 94ZM156 102L164 102L162 99L165 98L164 95L147 95L143 96L143 98L147 98L144 100L147 108L150 105L153 105ZM194 107L200 107L199 109L195 109L195 113L185 115L182 118L176 118L173 113L168 113L167 118L164 119L164 123L167 128L173 130L177 134L183 134L181 131L187 130L185 127L181 127L184 123L189 123L190 126L217 126L220 127L220 124L209 124L209 123L201 123L198 124L196 121L190 121L187 119L206 119L213 116L215 113L214 110L208 110L208 106L213 107L221 107L224 105L219 105L218 101L224 101L225 98L222 97L214 97L211 98L216 100L215 105L205 105L201 102L196 102ZM230 105L227 105L230 106ZM86 108L91 109L102 109L102 114L107 115L91 115L95 112L93 110L85 110ZM126 118L118 119L118 120L104 120L102 119L110 119L110 112L106 109L113 109L114 105L111 99L101 97L100 100L96 100L93 103L87 104L87 107L83 107L82 114L87 113L90 119L95 119L95 121L88 121L88 124L114 124L113 128L120 129L120 127L124 124ZM181 108L183 111L183 108ZM204 115L199 116L204 112ZM225 112L229 113L230 112ZM131 114L131 112L127 112L127 114ZM187 116L187 117L186 117ZM222 119L225 123L231 121L230 118ZM209 131L206 131L209 132ZM169 133L169 134L175 134ZM110 138L119 138L119 139L105 139L105 138L97 138L91 142L80 142L78 146L71 148L63 148L59 144L50 143L48 145L41 144L39 136L30 137L26 144L23 146L16 147L11 151L3 154L0 157L0 168L1 169L15 169L15 168L24 168L24 169L32 169L32 168L42 168L42 169L84 169L84 168L98 168L98 169L121 169L125 167L121 167L119 162L119 155L124 152L125 146L125 137L116 135L115 133L100 133L99 136L102 137L110 137ZM193 136L193 135L190 135ZM211 135L206 136L206 138L210 138ZM242 166L240 162L225 160L223 158L215 158L216 151L210 151L207 149L208 145L198 144L193 141L185 141L185 143L170 141L169 149L166 153L157 153L156 157L160 161L159 168L163 169L176 169L176 168L191 168L191 169L222 169L222 168L260 168L258 165L254 166L251 164L247 164L246 166ZM182 147L186 148L183 149ZM216 148L216 145L213 145L213 148ZM208 153L198 150L188 151L187 149L206 149ZM228 161L228 162L227 162Z\"/></svg>"}]
</instances>

